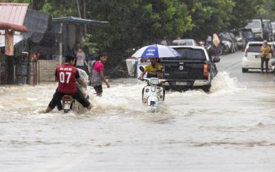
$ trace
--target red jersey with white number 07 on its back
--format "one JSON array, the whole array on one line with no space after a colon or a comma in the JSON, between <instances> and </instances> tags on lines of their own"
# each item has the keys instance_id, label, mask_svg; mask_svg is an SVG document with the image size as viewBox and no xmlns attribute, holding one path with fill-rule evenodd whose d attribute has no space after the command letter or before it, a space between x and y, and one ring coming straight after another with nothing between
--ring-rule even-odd
<instances>
[{"instance_id":1,"label":"red jersey with white number 07 on its back","mask_svg":"<svg viewBox=\"0 0 275 172\"><path fill-rule=\"evenodd\" d=\"M64 64L56 68L56 78L58 80L58 92L74 94L77 90L76 78L79 78L76 67Z\"/></svg>"}]
</instances>

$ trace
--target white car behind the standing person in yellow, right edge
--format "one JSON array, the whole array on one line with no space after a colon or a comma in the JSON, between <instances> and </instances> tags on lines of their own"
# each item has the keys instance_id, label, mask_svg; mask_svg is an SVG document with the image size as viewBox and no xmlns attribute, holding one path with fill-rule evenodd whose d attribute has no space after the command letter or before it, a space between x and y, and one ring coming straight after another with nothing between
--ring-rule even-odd
<instances>
[{"instance_id":1,"label":"white car behind the standing person in yellow, right edge","mask_svg":"<svg viewBox=\"0 0 275 172\"><path fill-rule=\"evenodd\" d=\"M245 47L245 52L243 54L243 72L248 72L248 69L261 69L261 46L263 42L254 41L248 42L248 45ZM268 45L271 46L272 52L274 52L274 42L269 42ZM272 61L275 61L275 58L272 53L270 53L270 61L268 61L268 69L272 69ZM263 65L265 69L265 64ZM274 70L274 69L272 69Z\"/></svg>"}]
</instances>

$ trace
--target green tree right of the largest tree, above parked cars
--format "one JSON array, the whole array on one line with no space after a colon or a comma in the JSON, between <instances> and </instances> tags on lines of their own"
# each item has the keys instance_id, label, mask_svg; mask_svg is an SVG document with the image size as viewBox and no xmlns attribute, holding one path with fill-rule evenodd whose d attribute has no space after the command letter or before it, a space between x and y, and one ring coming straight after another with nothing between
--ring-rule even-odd
<instances>
[{"instance_id":1,"label":"green tree right of the largest tree, above parked cars","mask_svg":"<svg viewBox=\"0 0 275 172\"><path fill-rule=\"evenodd\" d=\"M184 37L205 39L207 35L219 33L230 27L234 2L231 0L184 0L192 16L194 27Z\"/></svg>"}]
</instances>

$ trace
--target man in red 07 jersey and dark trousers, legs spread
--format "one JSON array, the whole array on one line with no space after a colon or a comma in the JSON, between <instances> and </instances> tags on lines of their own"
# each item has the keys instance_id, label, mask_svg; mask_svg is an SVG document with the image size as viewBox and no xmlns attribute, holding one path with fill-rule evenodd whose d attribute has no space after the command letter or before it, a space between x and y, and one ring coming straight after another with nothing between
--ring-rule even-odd
<instances>
[{"instance_id":1,"label":"man in red 07 jersey and dark trousers, legs spread","mask_svg":"<svg viewBox=\"0 0 275 172\"><path fill-rule=\"evenodd\" d=\"M87 85L81 80L80 75L76 67L74 67L75 58L72 55L65 56L65 64L56 67L56 80L58 80L58 87L52 100L50 101L47 109L42 111L43 114L49 113L56 107L64 95L71 95L72 98L78 100L83 107L91 109L91 103L89 100L84 98L83 94L76 87L76 80L78 83L87 88Z\"/></svg>"}]
</instances>

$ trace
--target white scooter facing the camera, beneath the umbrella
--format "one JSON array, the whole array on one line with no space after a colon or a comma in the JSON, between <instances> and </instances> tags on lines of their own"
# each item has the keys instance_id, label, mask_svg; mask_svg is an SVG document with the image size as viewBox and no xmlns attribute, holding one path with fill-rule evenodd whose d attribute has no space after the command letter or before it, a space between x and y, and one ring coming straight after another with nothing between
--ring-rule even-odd
<instances>
[{"instance_id":1,"label":"white scooter facing the camera, beneath the umbrella","mask_svg":"<svg viewBox=\"0 0 275 172\"><path fill-rule=\"evenodd\" d=\"M144 68L141 66L140 70L143 72ZM160 86L163 79L159 78L143 78L147 85L142 89L142 104L150 107L156 107L159 102L164 101L165 90Z\"/></svg>"}]
</instances>

